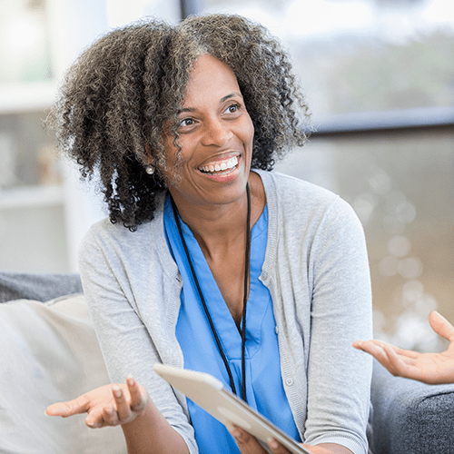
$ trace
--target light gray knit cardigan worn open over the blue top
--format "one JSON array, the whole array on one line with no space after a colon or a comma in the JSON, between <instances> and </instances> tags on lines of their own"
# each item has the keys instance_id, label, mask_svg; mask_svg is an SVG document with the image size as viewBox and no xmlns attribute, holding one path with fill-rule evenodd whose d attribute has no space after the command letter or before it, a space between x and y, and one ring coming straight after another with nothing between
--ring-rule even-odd
<instances>
[{"instance_id":1,"label":"light gray knit cardigan worn open over the blue top","mask_svg":"<svg viewBox=\"0 0 454 454\"><path fill-rule=\"evenodd\" d=\"M282 381L301 439L365 454L372 360L351 347L372 335L362 227L331 192L255 172L269 213L260 279L271 292ZM136 232L95 224L81 245L80 270L111 380L132 374L198 452L183 394L153 372L155 361L183 368L175 336L182 281L163 232L163 200Z\"/></svg>"}]
</instances>

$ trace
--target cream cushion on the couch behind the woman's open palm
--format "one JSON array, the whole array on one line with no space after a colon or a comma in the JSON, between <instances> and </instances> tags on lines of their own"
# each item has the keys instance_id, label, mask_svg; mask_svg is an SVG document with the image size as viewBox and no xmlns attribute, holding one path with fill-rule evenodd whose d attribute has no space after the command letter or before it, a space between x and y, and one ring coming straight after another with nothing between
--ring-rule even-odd
<instances>
[{"instance_id":1,"label":"cream cushion on the couch behind the woman's open palm","mask_svg":"<svg viewBox=\"0 0 454 454\"><path fill-rule=\"evenodd\" d=\"M89 429L86 415L44 414L109 382L83 295L0 304L0 345L0 452L126 452L120 427Z\"/></svg>"}]
</instances>

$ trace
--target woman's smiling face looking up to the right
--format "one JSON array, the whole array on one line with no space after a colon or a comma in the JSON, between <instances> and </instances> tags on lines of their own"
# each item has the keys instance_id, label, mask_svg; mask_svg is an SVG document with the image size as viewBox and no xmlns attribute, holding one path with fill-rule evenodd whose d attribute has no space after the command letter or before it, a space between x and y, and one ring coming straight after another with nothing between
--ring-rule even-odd
<instances>
[{"instance_id":1,"label":"woman's smiling face looking up to the right","mask_svg":"<svg viewBox=\"0 0 454 454\"><path fill-rule=\"evenodd\" d=\"M163 146L175 202L229 203L245 192L251 168L253 125L232 69L212 55L194 64L179 114L177 148L169 124ZM179 178L175 180L175 173Z\"/></svg>"}]
</instances>

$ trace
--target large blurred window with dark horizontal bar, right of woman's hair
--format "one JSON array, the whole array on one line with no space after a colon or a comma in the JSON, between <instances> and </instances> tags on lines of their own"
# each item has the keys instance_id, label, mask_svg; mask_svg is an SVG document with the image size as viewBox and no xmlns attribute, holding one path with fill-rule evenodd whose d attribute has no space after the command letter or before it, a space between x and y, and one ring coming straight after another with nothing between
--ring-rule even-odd
<instances>
[{"instance_id":1,"label":"large blurred window with dark horizontal bar, right of woman's hair","mask_svg":"<svg viewBox=\"0 0 454 454\"><path fill-rule=\"evenodd\" d=\"M205 0L289 49L317 132L277 167L337 192L363 223L375 336L441 349L454 321L454 8L450 0Z\"/></svg>"}]
</instances>

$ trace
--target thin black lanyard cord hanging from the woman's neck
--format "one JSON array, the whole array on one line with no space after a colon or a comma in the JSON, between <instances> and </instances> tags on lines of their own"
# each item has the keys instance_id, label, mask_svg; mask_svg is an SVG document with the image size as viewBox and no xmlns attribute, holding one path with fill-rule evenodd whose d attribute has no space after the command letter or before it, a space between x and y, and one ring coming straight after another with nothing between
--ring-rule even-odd
<instances>
[{"instance_id":1,"label":"thin black lanyard cord hanging from the woman's neck","mask_svg":"<svg viewBox=\"0 0 454 454\"><path fill-rule=\"evenodd\" d=\"M246 352L246 305L248 301L248 281L249 281L249 268L250 268L250 257L251 257L251 193L249 190L249 184L246 184L246 194L248 199L248 214L247 214L247 232L246 232L246 253L245 253L245 270L244 270L244 295L242 300L242 327L241 327L241 334L242 334L242 400L246 400L246 364L245 364L245 352ZM176 208L175 202L173 202L173 197L171 196L172 201L172 209L173 209L173 216L175 217L175 221L178 227L178 232L180 233L180 238L183 242L184 252L186 253L186 257L189 262L189 266L192 272L192 278L195 282L195 286L197 287L197 291L199 293L200 299L202 301L203 311L205 311L206 317L208 322L210 323L210 328L212 330L212 334L214 336L214 340L216 341L216 345L218 347L219 352L221 353L222 361L224 363L225 369L229 375L230 386L232 388L232 392L237 394L235 384L233 382L232 370L230 369L229 362L225 356L225 353L222 349L221 341L219 336L214 328L214 323L212 322L212 317L210 312L208 311L208 307L206 305L205 299L203 298L202 289L199 284L199 280L197 279L197 275L195 273L194 267L192 265L191 254L189 253L188 246L184 240L182 226L180 224L180 220L178 217L178 210Z\"/></svg>"}]
</instances>

